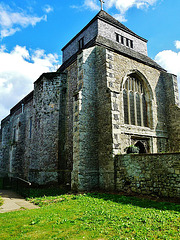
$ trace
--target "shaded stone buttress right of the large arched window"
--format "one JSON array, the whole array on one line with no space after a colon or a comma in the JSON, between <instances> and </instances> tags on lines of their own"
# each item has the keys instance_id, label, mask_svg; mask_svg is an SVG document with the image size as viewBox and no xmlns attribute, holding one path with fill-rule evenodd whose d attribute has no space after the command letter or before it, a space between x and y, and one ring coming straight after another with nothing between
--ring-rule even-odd
<instances>
[{"instance_id":1,"label":"shaded stone buttress right of the large arched window","mask_svg":"<svg viewBox=\"0 0 180 240\"><path fill-rule=\"evenodd\" d=\"M177 152L180 150L180 108L178 104L177 79L174 75L161 73L155 89L157 104L157 139L158 152Z\"/></svg>"}]
</instances>

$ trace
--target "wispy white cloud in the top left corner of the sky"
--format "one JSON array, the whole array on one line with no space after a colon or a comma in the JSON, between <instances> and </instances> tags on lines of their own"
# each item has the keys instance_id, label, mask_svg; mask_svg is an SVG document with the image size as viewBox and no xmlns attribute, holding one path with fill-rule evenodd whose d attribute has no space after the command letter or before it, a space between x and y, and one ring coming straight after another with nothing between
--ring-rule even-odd
<instances>
[{"instance_id":1,"label":"wispy white cloud in the top left corner of the sky","mask_svg":"<svg viewBox=\"0 0 180 240\"><path fill-rule=\"evenodd\" d=\"M5 38L29 25L35 26L41 21L46 21L47 16L42 17L28 15L25 11L15 12L8 5L0 3L0 37Z\"/></svg>"}]
</instances>

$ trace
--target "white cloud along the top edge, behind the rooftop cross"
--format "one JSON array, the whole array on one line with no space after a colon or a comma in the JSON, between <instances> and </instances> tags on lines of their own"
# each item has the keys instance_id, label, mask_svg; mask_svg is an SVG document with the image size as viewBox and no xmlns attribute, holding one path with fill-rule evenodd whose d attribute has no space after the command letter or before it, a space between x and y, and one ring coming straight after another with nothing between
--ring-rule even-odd
<instances>
[{"instance_id":1,"label":"white cloud along the top edge, behind the rooftop cross","mask_svg":"<svg viewBox=\"0 0 180 240\"><path fill-rule=\"evenodd\" d=\"M158 0L105 0L104 8L109 9L115 7L119 13L114 15L121 22L126 22L125 14L129 8L136 7L138 9L148 8L154 5ZM99 0L84 0L84 6L92 10L100 9Z\"/></svg>"}]
</instances>

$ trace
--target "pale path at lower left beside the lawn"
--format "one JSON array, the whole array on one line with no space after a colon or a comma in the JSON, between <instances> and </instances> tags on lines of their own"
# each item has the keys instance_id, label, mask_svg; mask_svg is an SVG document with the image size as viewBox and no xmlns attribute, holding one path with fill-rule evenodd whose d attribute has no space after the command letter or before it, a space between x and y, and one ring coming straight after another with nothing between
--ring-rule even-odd
<instances>
[{"instance_id":1,"label":"pale path at lower left beside the lawn","mask_svg":"<svg viewBox=\"0 0 180 240\"><path fill-rule=\"evenodd\" d=\"M10 190L0 190L0 196L4 200L4 204L0 206L0 213L39 208Z\"/></svg>"}]
</instances>

